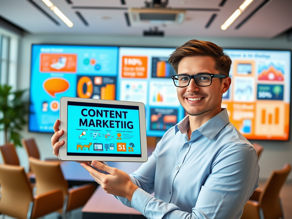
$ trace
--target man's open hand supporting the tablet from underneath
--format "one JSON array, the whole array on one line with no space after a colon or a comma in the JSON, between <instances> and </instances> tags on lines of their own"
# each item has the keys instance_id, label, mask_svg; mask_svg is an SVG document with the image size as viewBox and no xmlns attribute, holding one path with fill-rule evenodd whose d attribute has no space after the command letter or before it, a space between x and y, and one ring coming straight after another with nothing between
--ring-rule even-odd
<instances>
[{"instance_id":1,"label":"man's open hand supporting the tablet from underneath","mask_svg":"<svg viewBox=\"0 0 292 219\"><path fill-rule=\"evenodd\" d=\"M100 173L91 166L81 163L81 166L83 166L90 173L90 175L101 185L106 193L119 197L125 197L129 201L132 201L132 196L136 189L138 189L138 186L132 182L127 173L117 168L106 166L98 161L92 161L91 164L94 167L109 173Z\"/></svg>"}]
</instances>

